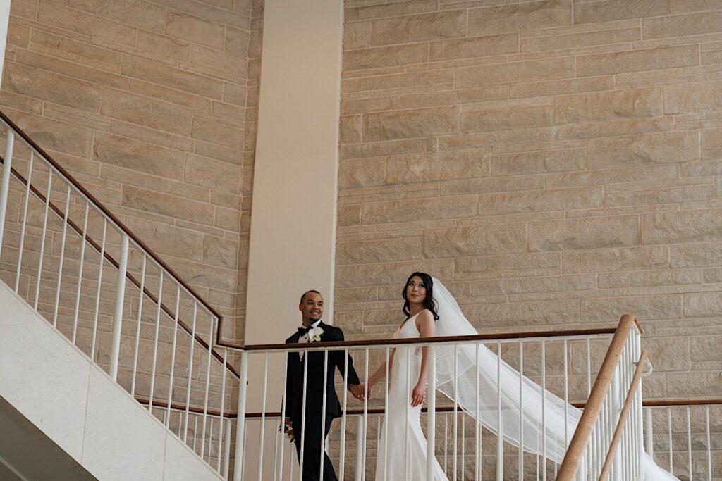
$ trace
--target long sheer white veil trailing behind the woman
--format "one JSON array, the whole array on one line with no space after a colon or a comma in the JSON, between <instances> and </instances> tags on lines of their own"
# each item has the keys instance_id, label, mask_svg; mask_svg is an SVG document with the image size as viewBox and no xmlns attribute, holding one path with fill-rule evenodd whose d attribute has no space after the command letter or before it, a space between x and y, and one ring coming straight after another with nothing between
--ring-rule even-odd
<instances>
[{"instance_id":1,"label":"long sheer white veil trailing behind the woman","mask_svg":"<svg viewBox=\"0 0 722 481\"><path fill-rule=\"evenodd\" d=\"M448 289L433 281L436 335L477 335ZM483 344L437 345L436 377L436 389L485 428L524 451L562 462L581 418L578 408L541 389ZM677 480L646 455L644 472L645 480Z\"/></svg>"}]
</instances>

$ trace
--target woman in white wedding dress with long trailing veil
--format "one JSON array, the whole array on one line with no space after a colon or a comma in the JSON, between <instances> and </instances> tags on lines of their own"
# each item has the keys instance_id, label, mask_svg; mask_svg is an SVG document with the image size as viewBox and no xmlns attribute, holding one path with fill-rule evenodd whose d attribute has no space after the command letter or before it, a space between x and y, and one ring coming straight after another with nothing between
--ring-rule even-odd
<instances>
[{"instance_id":1,"label":"woman in white wedding dress with long trailing veil","mask_svg":"<svg viewBox=\"0 0 722 481\"><path fill-rule=\"evenodd\" d=\"M406 319L393 338L477 334L456 299L427 273L409 275L401 296ZM427 479L427 441L420 422L427 384L427 349L399 345L388 358L388 408L378 445L375 480ZM484 345L439 344L435 349L439 392L458 402L485 428L501 432L508 443L521 445L531 453L546 453L552 462L562 462L567 440L580 420L580 410L521 376ZM385 375L386 363L382 363L369 377L366 392L370 393ZM448 481L438 461L433 466L433 479ZM645 480L677 480L647 455L643 457L643 469Z\"/></svg>"}]
</instances>

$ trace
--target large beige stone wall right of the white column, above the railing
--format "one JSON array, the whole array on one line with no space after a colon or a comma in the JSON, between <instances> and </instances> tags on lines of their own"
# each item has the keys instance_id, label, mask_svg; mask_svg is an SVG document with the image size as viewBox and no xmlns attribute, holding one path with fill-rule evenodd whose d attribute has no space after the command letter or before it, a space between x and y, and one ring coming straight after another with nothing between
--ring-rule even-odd
<instances>
[{"instance_id":1,"label":"large beige stone wall right of the white column, above the railing","mask_svg":"<svg viewBox=\"0 0 722 481\"><path fill-rule=\"evenodd\" d=\"M722 6L346 2L336 322L413 270L479 332L613 325L645 397L722 393Z\"/></svg>"}]
</instances>

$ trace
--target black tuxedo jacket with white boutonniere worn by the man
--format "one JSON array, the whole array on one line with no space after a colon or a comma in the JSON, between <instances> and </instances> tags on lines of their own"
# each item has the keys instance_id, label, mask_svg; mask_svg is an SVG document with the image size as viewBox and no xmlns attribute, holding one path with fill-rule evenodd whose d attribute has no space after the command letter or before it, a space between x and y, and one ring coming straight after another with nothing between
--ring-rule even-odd
<instances>
[{"instance_id":1,"label":"black tuxedo jacket with white boutonniere worn by the man","mask_svg":"<svg viewBox=\"0 0 722 481\"><path fill-rule=\"evenodd\" d=\"M330 326L321 322L319 325L323 329L321 341L344 340L344 332L338 327ZM297 343L300 332L286 340L286 343ZM303 369L304 363L308 362L308 383L306 386L306 412L321 412L323 410L323 351L308 351L301 361L299 353L288 353L288 362L286 366L286 396L284 402L286 404L287 418L300 418L303 409ZM329 368L326 371L326 415L329 417L338 417L341 415L341 405L339 397L336 395L334 387L334 375L336 369L341 375L344 375L344 351L329 351ZM351 356L349 356L348 373L344 379L346 387L352 384L360 384L359 376L354 369Z\"/></svg>"}]
</instances>

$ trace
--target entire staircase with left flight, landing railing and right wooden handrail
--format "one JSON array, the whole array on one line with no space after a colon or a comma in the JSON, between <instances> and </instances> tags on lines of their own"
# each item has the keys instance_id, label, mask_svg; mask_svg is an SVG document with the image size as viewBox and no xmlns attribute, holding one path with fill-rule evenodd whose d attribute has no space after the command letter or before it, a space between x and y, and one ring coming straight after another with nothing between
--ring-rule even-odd
<instances>
[{"instance_id":1,"label":"entire staircase with left flight, landing railing and right wooden handrail","mask_svg":"<svg viewBox=\"0 0 722 481\"><path fill-rule=\"evenodd\" d=\"M0 479L300 479L295 449L278 431L284 383L272 376L283 372L285 357L347 350L365 378L371 361L408 340L252 346L220 339L223 319L212 306L1 112L0 125ZM640 335L627 315L616 329L417 343L432 352L438 343L477 352L485 345L500 366L563 400L566 420L574 406L584 408L578 425L553 433L568 446L559 452L547 449L544 402L537 418L547 436L529 443L523 423L501 407L484 417L436 394L429 396L434 415L422 417L427 449L450 480L640 480L645 451L658 462L669 458L669 470L684 469L687 479L719 479L710 433L722 400L704 406L706 438L694 433L695 450L692 420L701 418L690 407L684 449L672 441L679 430L671 405L666 438L653 433L660 415L649 410L643 425L648 363ZM383 389L362 405L337 391L344 415L328 441L336 472L373 480ZM706 456L693 459L700 445Z\"/></svg>"}]
</instances>

